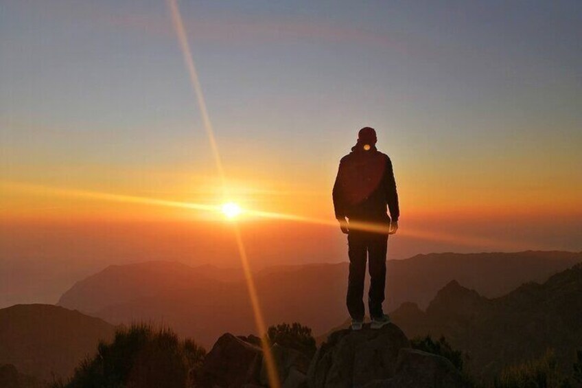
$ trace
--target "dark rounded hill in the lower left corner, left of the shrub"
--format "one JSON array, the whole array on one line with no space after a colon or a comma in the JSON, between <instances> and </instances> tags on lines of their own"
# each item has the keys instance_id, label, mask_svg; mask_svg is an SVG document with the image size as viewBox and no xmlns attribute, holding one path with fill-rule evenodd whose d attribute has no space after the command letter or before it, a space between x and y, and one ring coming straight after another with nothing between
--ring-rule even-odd
<instances>
[{"instance_id":1,"label":"dark rounded hill in the lower left corner, left of the shrub","mask_svg":"<svg viewBox=\"0 0 582 388\"><path fill-rule=\"evenodd\" d=\"M47 304L0 309L0 365L43 379L69 376L114 326L78 311Z\"/></svg>"}]
</instances>

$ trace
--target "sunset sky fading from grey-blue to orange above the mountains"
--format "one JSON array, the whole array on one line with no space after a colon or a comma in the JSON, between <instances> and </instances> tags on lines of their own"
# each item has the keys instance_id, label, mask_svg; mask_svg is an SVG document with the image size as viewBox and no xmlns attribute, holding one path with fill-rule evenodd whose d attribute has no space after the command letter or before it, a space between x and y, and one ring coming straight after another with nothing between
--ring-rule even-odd
<instances>
[{"instance_id":1,"label":"sunset sky fading from grey-blue to orange above the mountains","mask_svg":"<svg viewBox=\"0 0 582 388\"><path fill-rule=\"evenodd\" d=\"M331 220L241 217L255 268L347 260L331 186L363 126L395 169L389 258L582 250L579 1L178 3L226 199ZM62 279L50 299L113 262L240 265L217 212L110 197L225 201L167 3L0 7L0 274Z\"/></svg>"}]
</instances>

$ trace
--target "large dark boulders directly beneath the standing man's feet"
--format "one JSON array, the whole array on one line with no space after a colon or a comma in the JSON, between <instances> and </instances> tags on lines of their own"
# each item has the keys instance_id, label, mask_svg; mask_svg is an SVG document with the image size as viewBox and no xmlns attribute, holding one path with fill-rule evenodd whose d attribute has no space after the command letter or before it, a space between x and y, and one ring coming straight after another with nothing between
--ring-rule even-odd
<instances>
[{"instance_id":1,"label":"large dark boulders directly beneath the standing man's feet","mask_svg":"<svg viewBox=\"0 0 582 388\"><path fill-rule=\"evenodd\" d=\"M311 388L465 388L446 358L410 349L397 326L332 333L310 365Z\"/></svg>"}]
</instances>

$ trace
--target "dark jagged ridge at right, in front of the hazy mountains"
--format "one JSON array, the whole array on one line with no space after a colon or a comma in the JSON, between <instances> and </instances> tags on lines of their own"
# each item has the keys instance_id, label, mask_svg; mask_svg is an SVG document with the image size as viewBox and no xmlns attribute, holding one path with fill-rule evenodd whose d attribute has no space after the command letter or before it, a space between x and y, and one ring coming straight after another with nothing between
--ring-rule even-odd
<instances>
[{"instance_id":1,"label":"dark jagged ridge at right, in front of the hazy mountains","mask_svg":"<svg viewBox=\"0 0 582 388\"><path fill-rule=\"evenodd\" d=\"M408 336L445 336L469 355L472 372L485 377L548 348L569 369L582 347L582 264L496 299L450 282L426 312L403 304L391 317Z\"/></svg>"}]
</instances>

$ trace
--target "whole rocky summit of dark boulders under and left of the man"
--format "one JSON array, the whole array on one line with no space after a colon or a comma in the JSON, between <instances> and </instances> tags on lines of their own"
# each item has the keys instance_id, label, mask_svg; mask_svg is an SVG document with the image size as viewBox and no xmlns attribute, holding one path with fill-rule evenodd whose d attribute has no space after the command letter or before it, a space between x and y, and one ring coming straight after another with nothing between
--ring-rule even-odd
<instances>
[{"instance_id":1,"label":"whole rocky summit of dark boulders under and left of the man","mask_svg":"<svg viewBox=\"0 0 582 388\"><path fill-rule=\"evenodd\" d=\"M467 387L449 360L413 350L394 324L332 332L311 360L277 343L272 354L283 388ZM224 334L193 377L196 387L268 387L259 339Z\"/></svg>"}]
</instances>

